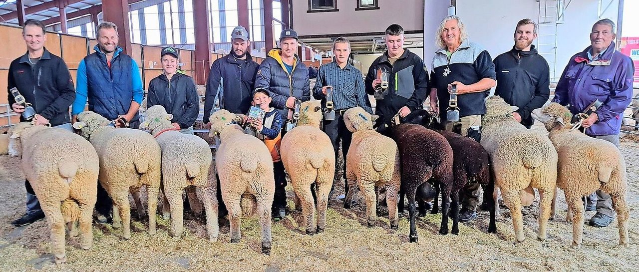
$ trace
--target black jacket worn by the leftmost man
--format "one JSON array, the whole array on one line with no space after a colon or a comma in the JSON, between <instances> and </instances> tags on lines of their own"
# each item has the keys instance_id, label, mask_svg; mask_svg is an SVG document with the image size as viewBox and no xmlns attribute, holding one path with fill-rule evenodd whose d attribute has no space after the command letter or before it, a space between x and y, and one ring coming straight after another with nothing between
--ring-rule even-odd
<instances>
[{"instance_id":1,"label":"black jacket worn by the leftmost man","mask_svg":"<svg viewBox=\"0 0 639 272\"><path fill-rule=\"evenodd\" d=\"M29 64L29 53L12 61L9 66L8 90L17 87L27 103L52 126L70 122L69 107L75 100L73 80L65 61L47 49L35 67ZM9 105L15 98L8 92ZM24 121L20 116L20 121Z\"/></svg>"}]
</instances>

